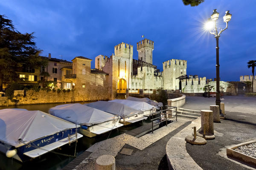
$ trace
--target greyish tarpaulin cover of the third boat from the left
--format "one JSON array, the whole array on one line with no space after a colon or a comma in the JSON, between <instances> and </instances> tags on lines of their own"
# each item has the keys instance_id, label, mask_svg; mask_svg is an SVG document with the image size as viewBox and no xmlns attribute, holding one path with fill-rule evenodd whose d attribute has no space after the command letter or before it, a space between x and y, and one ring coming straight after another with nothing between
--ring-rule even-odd
<instances>
[{"instance_id":1,"label":"greyish tarpaulin cover of the third boat from the left","mask_svg":"<svg viewBox=\"0 0 256 170\"><path fill-rule=\"evenodd\" d=\"M131 108L127 105L123 105L121 103L116 102L106 102L106 101L98 101L93 103L84 104L91 108L96 108L101 111L105 111L114 115L119 115L121 117L130 117L136 113L142 114L142 111Z\"/></svg>"}]
</instances>

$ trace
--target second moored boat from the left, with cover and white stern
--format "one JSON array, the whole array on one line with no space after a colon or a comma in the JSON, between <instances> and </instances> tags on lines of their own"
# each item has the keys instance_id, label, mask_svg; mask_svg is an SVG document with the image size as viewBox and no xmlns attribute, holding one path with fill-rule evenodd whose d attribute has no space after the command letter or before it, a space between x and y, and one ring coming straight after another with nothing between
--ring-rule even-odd
<instances>
[{"instance_id":1,"label":"second moored boat from the left, with cover and white stern","mask_svg":"<svg viewBox=\"0 0 256 170\"><path fill-rule=\"evenodd\" d=\"M121 127L120 116L79 103L58 105L49 110L53 116L81 125L79 133L93 137Z\"/></svg>"}]
</instances>

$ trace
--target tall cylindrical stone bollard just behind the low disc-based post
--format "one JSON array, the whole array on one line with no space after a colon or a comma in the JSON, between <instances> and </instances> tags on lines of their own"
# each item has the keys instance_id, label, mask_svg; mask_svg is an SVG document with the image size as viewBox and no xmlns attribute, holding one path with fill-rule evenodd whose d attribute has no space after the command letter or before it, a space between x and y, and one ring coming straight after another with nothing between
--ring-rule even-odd
<instances>
[{"instance_id":1,"label":"tall cylindrical stone bollard just behind the low disc-based post","mask_svg":"<svg viewBox=\"0 0 256 170\"><path fill-rule=\"evenodd\" d=\"M201 130L204 131L205 128L206 132L214 134L212 113L209 110L201 110Z\"/></svg>"}]
</instances>

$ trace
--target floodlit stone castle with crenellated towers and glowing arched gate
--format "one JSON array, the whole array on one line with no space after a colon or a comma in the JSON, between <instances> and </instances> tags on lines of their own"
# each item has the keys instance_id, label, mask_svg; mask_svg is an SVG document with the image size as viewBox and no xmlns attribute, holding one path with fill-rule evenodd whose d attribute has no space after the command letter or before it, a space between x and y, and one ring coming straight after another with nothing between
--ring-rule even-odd
<instances>
[{"instance_id":1,"label":"floodlit stone castle with crenellated towers and glowing arched gate","mask_svg":"<svg viewBox=\"0 0 256 170\"><path fill-rule=\"evenodd\" d=\"M95 68L108 73L109 93L130 89L179 89L177 77L186 75L187 61L171 59L163 62L163 72L153 65L154 41L137 42L138 59L133 59L133 45L124 42L114 47L111 57L99 55ZM125 87L126 86L126 87Z\"/></svg>"}]
</instances>

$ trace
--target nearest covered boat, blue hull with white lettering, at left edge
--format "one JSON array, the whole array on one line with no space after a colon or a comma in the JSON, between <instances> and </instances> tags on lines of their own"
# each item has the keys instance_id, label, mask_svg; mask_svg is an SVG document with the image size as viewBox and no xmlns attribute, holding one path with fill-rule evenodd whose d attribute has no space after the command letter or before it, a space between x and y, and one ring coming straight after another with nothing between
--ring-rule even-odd
<instances>
[{"instance_id":1,"label":"nearest covered boat, blue hull with white lettering, at left edge","mask_svg":"<svg viewBox=\"0 0 256 170\"><path fill-rule=\"evenodd\" d=\"M0 110L0 151L26 161L64 144L77 142L80 126L42 111Z\"/></svg>"}]
</instances>

